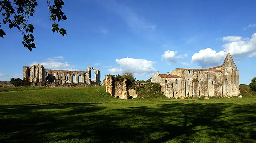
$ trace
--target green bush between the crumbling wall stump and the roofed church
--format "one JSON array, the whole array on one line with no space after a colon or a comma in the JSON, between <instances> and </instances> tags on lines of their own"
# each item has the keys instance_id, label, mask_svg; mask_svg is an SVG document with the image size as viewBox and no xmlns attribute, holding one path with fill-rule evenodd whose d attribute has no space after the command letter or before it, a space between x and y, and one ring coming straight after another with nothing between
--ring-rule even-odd
<instances>
[{"instance_id":1,"label":"green bush between the crumbling wall stump and the roofed church","mask_svg":"<svg viewBox=\"0 0 256 143\"><path fill-rule=\"evenodd\" d=\"M138 98L167 98L161 92L160 83L152 83L141 85L136 87L136 92L138 93Z\"/></svg>"}]
</instances>

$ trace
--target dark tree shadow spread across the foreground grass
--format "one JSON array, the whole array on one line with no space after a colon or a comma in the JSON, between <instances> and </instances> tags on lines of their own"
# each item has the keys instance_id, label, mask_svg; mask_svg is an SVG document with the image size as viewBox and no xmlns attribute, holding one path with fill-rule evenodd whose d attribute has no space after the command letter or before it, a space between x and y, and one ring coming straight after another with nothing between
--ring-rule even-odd
<instances>
[{"instance_id":1,"label":"dark tree shadow spread across the foreground grass","mask_svg":"<svg viewBox=\"0 0 256 143\"><path fill-rule=\"evenodd\" d=\"M256 104L0 106L0 142L255 142Z\"/></svg>"}]
</instances>

